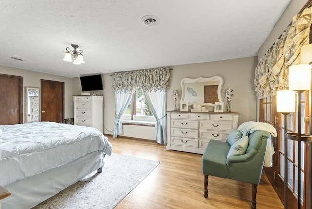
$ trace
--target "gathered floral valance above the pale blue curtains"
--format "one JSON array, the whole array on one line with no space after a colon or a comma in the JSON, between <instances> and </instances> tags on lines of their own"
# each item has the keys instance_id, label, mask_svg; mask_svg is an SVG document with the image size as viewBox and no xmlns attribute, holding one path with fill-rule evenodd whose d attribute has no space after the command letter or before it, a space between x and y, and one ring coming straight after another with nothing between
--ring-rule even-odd
<instances>
[{"instance_id":1,"label":"gathered floral valance above the pale blue curtains","mask_svg":"<svg viewBox=\"0 0 312 209\"><path fill-rule=\"evenodd\" d=\"M116 91L163 91L169 86L168 67L113 73L112 89Z\"/></svg>"}]
</instances>

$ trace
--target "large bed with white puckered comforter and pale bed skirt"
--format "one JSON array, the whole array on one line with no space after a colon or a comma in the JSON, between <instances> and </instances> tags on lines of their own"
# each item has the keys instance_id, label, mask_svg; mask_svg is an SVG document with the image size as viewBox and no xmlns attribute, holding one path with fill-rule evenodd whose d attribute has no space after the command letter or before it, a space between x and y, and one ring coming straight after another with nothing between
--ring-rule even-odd
<instances>
[{"instance_id":1,"label":"large bed with white puckered comforter and pale bed skirt","mask_svg":"<svg viewBox=\"0 0 312 209\"><path fill-rule=\"evenodd\" d=\"M0 125L2 209L28 209L104 165L112 146L92 127L34 122Z\"/></svg>"}]
</instances>

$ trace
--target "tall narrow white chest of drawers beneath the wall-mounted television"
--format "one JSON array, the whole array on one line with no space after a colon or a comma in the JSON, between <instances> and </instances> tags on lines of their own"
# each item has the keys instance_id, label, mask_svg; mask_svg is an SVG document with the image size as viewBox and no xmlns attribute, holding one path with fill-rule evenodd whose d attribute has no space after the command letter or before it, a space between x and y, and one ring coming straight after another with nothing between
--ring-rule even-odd
<instances>
[{"instance_id":1,"label":"tall narrow white chest of drawers beneath the wall-mounted television","mask_svg":"<svg viewBox=\"0 0 312 209\"><path fill-rule=\"evenodd\" d=\"M103 133L103 97L73 96L74 125L97 128Z\"/></svg>"}]
</instances>

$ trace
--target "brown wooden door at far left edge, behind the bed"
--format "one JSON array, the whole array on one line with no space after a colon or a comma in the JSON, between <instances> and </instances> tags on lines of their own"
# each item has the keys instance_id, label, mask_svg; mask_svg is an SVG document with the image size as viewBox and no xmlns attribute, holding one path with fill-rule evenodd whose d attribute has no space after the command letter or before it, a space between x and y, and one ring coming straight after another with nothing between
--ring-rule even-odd
<instances>
[{"instance_id":1,"label":"brown wooden door at far left edge, behind the bed","mask_svg":"<svg viewBox=\"0 0 312 209\"><path fill-rule=\"evenodd\" d=\"M0 125L23 123L23 77L0 74Z\"/></svg>"}]
</instances>

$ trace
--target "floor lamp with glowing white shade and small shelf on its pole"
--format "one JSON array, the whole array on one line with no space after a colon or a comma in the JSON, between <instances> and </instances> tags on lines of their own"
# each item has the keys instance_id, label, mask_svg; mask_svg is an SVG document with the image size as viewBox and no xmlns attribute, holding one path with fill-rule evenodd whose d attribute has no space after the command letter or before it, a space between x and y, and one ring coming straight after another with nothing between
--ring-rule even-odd
<instances>
[{"instance_id":1,"label":"floor lamp with glowing white shade and small shelf on its pole","mask_svg":"<svg viewBox=\"0 0 312 209\"><path fill-rule=\"evenodd\" d=\"M311 141L311 135L301 133L301 93L310 90L311 68L308 64L293 65L288 68L288 88L297 94L298 133L287 133L288 139L298 141L298 209L301 208L301 142Z\"/></svg>"}]
</instances>

